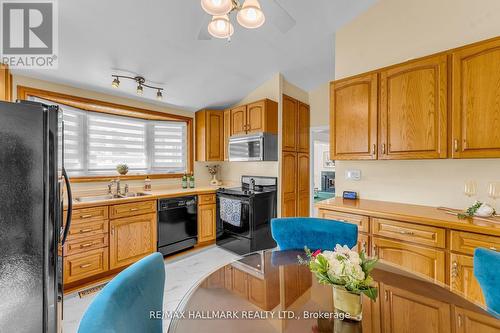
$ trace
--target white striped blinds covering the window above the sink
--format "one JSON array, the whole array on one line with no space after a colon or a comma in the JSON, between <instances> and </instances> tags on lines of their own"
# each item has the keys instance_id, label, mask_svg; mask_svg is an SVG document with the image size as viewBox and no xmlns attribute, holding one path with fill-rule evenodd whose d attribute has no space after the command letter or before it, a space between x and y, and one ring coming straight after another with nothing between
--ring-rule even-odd
<instances>
[{"instance_id":1,"label":"white striped blinds covering the window above the sink","mask_svg":"<svg viewBox=\"0 0 500 333\"><path fill-rule=\"evenodd\" d=\"M57 104L37 97L33 101ZM89 112L59 104L64 120L64 166L72 176L182 173L187 169L187 124Z\"/></svg>"}]
</instances>

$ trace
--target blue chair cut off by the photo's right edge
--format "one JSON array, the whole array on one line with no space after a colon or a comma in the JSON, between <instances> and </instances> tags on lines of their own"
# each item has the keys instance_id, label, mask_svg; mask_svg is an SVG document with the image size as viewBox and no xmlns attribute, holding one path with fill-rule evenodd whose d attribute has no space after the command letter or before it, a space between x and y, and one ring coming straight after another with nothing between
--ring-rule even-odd
<instances>
[{"instance_id":1,"label":"blue chair cut off by the photo's right edge","mask_svg":"<svg viewBox=\"0 0 500 333\"><path fill-rule=\"evenodd\" d=\"M500 319L500 252L474 250L474 275L481 285L488 310Z\"/></svg>"}]
</instances>

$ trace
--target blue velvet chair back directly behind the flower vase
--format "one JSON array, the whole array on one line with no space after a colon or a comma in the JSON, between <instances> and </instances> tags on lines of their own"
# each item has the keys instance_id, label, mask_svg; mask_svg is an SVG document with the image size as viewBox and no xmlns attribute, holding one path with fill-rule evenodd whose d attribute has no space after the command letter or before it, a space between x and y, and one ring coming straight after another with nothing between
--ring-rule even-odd
<instances>
[{"instance_id":1,"label":"blue velvet chair back directly behind the flower vase","mask_svg":"<svg viewBox=\"0 0 500 333\"><path fill-rule=\"evenodd\" d=\"M333 250L335 245L353 248L358 242L358 226L352 223L313 217L276 218L271 233L280 250Z\"/></svg>"}]
</instances>

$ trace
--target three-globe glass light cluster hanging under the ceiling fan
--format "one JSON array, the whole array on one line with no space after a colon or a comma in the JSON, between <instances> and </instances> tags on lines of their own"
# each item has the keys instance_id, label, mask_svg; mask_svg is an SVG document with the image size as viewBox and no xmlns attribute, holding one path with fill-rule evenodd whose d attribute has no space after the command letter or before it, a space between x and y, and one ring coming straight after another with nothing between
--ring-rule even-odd
<instances>
[{"instance_id":1,"label":"three-globe glass light cluster hanging under the ceiling fan","mask_svg":"<svg viewBox=\"0 0 500 333\"><path fill-rule=\"evenodd\" d=\"M243 5L238 0L201 0L201 7L213 15L208 24L208 32L215 38L230 39L233 35L234 27L229 19L229 14L233 11L238 12L238 23L247 29L259 28L266 21L258 0L245 0Z\"/></svg>"}]
</instances>

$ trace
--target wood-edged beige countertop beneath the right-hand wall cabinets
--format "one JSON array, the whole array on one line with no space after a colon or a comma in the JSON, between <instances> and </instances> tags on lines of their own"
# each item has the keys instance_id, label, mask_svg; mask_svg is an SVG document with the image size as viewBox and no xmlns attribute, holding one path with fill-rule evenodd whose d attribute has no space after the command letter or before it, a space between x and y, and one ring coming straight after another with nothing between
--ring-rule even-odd
<instances>
[{"instance_id":1,"label":"wood-edged beige countertop beneath the right-hand wall cabinets","mask_svg":"<svg viewBox=\"0 0 500 333\"><path fill-rule=\"evenodd\" d=\"M339 197L320 201L315 204L315 207L343 213L500 236L500 219L492 221L475 218L459 219L455 215L437 209L437 207L366 199L345 200Z\"/></svg>"}]
</instances>

